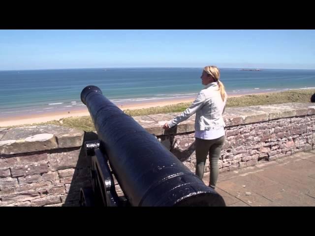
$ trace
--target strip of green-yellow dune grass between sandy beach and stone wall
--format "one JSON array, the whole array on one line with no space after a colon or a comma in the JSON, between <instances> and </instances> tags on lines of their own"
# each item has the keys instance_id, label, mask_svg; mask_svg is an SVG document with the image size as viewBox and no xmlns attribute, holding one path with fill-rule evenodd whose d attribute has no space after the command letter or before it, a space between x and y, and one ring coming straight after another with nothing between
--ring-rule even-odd
<instances>
[{"instance_id":1,"label":"strip of green-yellow dune grass between sandy beach and stone wall","mask_svg":"<svg viewBox=\"0 0 315 236\"><path fill-rule=\"evenodd\" d=\"M310 102L311 96L315 93L315 89L301 89L294 91L285 92L274 92L266 94L253 94L244 95L240 97L229 97L226 102L226 107L244 107L244 106L254 106L254 105L268 105L268 104L279 104L279 103L291 103L291 102ZM163 114L170 112L183 112L189 107L191 103L179 103L175 105L167 105L163 107L151 107L145 109L136 110L124 110L124 112L129 116L144 116L153 114ZM63 118L62 122L53 120L44 123L36 124L56 124L63 125L70 128L76 128L84 131L95 131L94 124L90 116L85 117L69 117ZM25 126L25 125L19 125ZM18 127L18 126L14 126Z\"/></svg>"}]
</instances>

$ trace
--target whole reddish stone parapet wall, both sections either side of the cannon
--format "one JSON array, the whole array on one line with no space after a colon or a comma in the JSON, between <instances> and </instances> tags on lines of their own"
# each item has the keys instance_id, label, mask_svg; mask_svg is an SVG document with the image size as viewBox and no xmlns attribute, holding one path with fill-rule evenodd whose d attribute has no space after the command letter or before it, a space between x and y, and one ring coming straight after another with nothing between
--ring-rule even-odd
<instances>
[{"instance_id":1,"label":"whole reddish stone parapet wall, both sections either side of the cannon","mask_svg":"<svg viewBox=\"0 0 315 236\"><path fill-rule=\"evenodd\" d=\"M194 172L194 116L162 129L178 114L134 119ZM315 149L312 103L227 108L223 117L221 171ZM95 139L94 133L55 125L0 128L0 206L78 206L80 187L90 186L91 163L81 146Z\"/></svg>"}]
</instances>

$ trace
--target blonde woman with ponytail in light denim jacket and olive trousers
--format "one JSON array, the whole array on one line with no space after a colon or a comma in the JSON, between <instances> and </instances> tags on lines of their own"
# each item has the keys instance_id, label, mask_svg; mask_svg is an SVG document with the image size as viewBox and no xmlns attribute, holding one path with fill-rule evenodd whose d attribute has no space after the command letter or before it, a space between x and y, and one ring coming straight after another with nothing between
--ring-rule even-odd
<instances>
[{"instance_id":1,"label":"blonde woman with ponytail in light denim jacket and olive trousers","mask_svg":"<svg viewBox=\"0 0 315 236\"><path fill-rule=\"evenodd\" d=\"M224 144L225 123L222 114L224 112L227 94L220 81L220 70L218 67L204 67L200 78L205 87L198 93L190 107L180 116L166 122L163 125L163 129L169 129L196 113L196 175L202 179L209 152L209 186L215 189L219 177L218 161Z\"/></svg>"}]
</instances>

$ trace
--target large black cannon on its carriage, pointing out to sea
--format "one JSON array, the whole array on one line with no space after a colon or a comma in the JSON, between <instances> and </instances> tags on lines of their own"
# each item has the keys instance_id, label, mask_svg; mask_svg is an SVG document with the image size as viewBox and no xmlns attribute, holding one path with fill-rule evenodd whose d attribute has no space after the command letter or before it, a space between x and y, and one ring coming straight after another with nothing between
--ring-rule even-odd
<instances>
[{"instance_id":1,"label":"large black cannon on its carriage, pointing out to sea","mask_svg":"<svg viewBox=\"0 0 315 236\"><path fill-rule=\"evenodd\" d=\"M99 88L87 86L81 100L98 134L98 141L86 143L92 189L81 189L81 206L225 206L221 195ZM118 197L113 175L124 196Z\"/></svg>"}]
</instances>

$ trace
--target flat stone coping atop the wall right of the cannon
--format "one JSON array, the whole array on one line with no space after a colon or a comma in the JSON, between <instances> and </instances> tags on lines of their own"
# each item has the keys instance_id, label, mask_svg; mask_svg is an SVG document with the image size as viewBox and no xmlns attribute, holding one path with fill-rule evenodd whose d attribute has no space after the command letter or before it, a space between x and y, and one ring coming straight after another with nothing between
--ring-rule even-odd
<instances>
[{"instance_id":1,"label":"flat stone coping atop the wall right of the cannon","mask_svg":"<svg viewBox=\"0 0 315 236\"><path fill-rule=\"evenodd\" d=\"M179 123L169 130L163 130L162 125L180 115L177 113L157 114L148 116L133 117L142 127L149 133L155 135L171 135L179 133L193 132L195 115L187 120ZM223 114L223 119L226 127L250 124L263 121L269 121L280 118L299 117L315 114L314 103L284 103L272 105L260 105L249 107L231 107L226 108Z\"/></svg>"}]
</instances>

